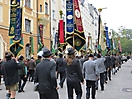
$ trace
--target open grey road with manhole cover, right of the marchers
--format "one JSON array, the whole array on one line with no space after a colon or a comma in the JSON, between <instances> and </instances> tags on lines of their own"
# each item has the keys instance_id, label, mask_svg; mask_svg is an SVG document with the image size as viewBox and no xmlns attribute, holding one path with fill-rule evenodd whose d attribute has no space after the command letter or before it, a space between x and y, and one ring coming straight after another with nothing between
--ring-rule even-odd
<instances>
[{"instance_id":1,"label":"open grey road with manhole cover, right of the marchers","mask_svg":"<svg viewBox=\"0 0 132 99\"><path fill-rule=\"evenodd\" d=\"M105 84L105 90L97 91L97 99L132 99L132 60L122 64L121 69Z\"/></svg>"}]
</instances>

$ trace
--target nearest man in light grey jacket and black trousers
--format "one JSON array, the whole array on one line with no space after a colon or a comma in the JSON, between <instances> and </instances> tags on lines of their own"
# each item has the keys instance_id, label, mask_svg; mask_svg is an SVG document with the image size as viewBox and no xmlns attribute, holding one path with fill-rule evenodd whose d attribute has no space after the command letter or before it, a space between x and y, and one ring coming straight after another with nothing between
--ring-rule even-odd
<instances>
[{"instance_id":1,"label":"nearest man in light grey jacket and black trousers","mask_svg":"<svg viewBox=\"0 0 132 99\"><path fill-rule=\"evenodd\" d=\"M89 60L84 62L83 64L83 74L85 76L86 86L87 86L86 99L90 98L90 88L91 87L92 87L92 99L95 99L95 94L96 94L95 81L98 79L99 73L98 73L97 65L93 61L94 56L90 54L88 58Z\"/></svg>"}]
</instances>

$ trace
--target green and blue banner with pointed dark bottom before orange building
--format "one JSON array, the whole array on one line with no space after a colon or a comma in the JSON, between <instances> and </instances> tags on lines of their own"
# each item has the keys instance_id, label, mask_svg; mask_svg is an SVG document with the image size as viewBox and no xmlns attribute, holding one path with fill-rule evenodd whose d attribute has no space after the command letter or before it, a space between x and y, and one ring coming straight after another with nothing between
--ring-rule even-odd
<instances>
[{"instance_id":1,"label":"green and blue banner with pointed dark bottom before orange building","mask_svg":"<svg viewBox=\"0 0 132 99\"><path fill-rule=\"evenodd\" d=\"M17 5L16 8L14 8L16 6L15 4ZM12 7L12 5L15 5L15 6ZM10 37L9 49L11 53L16 57L19 55L20 51L23 49L23 35L21 33L22 32L22 8L20 8L20 0L11 0L10 16L11 16L11 21L10 21L10 29L9 29L9 37ZM14 16L16 17L14 18Z\"/></svg>"}]
</instances>

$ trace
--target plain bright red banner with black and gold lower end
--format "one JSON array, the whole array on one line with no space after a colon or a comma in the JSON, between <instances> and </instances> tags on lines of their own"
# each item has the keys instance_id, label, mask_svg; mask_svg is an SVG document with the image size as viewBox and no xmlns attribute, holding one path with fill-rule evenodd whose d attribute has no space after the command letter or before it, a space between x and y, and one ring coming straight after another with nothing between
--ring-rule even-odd
<instances>
[{"instance_id":1,"label":"plain bright red banner with black and gold lower end","mask_svg":"<svg viewBox=\"0 0 132 99\"><path fill-rule=\"evenodd\" d=\"M64 51L66 49L66 43L65 43L65 22L63 20L59 21L58 24L58 50L60 52Z\"/></svg>"}]
</instances>

